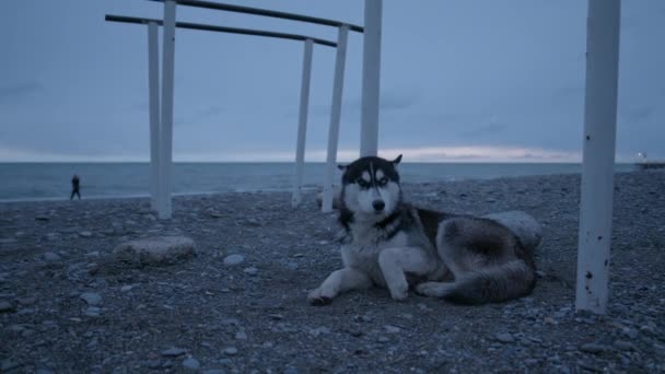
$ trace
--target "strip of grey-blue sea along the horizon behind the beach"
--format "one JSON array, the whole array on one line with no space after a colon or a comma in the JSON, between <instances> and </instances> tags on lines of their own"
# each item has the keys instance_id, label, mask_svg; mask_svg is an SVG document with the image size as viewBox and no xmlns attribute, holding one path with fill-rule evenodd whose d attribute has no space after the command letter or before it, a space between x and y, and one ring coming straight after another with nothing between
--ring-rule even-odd
<instances>
[{"instance_id":1,"label":"strip of grey-blue sea along the horizon behind the beach","mask_svg":"<svg viewBox=\"0 0 665 374\"><path fill-rule=\"evenodd\" d=\"M174 163L175 195L289 191L293 163ZM306 163L304 188L319 189L324 163ZM633 171L616 164L616 172ZM402 163L406 183L581 173L579 163ZM84 199L149 196L148 163L0 163L0 201L63 200L71 177L81 179ZM338 174L339 177L339 174Z\"/></svg>"}]
</instances>

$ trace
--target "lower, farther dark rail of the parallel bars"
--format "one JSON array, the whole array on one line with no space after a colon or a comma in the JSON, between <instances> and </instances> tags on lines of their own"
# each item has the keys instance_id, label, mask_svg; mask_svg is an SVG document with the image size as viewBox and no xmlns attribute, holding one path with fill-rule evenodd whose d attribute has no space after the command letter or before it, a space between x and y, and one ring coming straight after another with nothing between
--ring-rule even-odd
<instances>
[{"instance_id":1,"label":"lower, farther dark rail of the parallel bars","mask_svg":"<svg viewBox=\"0 0 665 374\"><path fill-rule=\"evenodd\" d=\"M154 22L158 25L162 25L162 20L143 19L143 17L137 17L137 16L127 16L127 15L106 14L105 20L109 21L109 22L136 23L136 24L149 24L151 22ZM276 38L291 39L291 40L312 39L312 42L314 42L315 44L319 44L322 46L337 47L337 43L335 43L335 42L319 39L316 37L310 37L306 35L299 35L299 34L285 34L285 33L275 33L275 32L268 32L268 31L261 31L261 30L202 25L202 24L189 23L189 22L176 22L175 26L178 28L211 31L211 32L229 33L229 34L266 36L266 37L276 37Z\"/></svg>"}]
</instances>

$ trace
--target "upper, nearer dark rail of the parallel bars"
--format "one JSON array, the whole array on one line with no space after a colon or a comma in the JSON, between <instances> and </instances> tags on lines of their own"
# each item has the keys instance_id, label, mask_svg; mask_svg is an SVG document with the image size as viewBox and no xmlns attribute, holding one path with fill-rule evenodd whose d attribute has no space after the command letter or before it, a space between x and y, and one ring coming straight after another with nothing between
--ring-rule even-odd
<instances>
[{"instance_id":1,"label":"upper, nearer dark rail of the parallel bars","mask_svg":"<svg viewBox=\"0 0 665 374\"><path fill-rule=\"evenodd\" d=\"M164 2L164 0L150 0L150 1ZM353 25L353 24L345 23L345 22L340 22L340 21L319 19L316 16L300 15L300 14L294 14L294 13L271 11L271 10L267 10L267 9L223 4L223 3L219 3L219 2L210 2L210 1L201 1L201 0L175 0L175 2L178 5L213 9L213 10L245 13L245 14L256 14L256 15L271 16L271 17L276 17L276 19L316 23L316 24L326 25L326 26L339 27L341 25L349 25L349 30L351 30L351 31L359 32L359 33L364 32L364 28L359 25Z\"/></svg>"}]
</instances>

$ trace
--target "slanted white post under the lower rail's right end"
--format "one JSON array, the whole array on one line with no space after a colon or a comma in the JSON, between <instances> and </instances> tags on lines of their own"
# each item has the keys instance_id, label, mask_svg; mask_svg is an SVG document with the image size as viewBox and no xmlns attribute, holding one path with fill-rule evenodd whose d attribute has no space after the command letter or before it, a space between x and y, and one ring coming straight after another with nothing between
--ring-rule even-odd
<instances>
[{"instance_id":1,"label":"slanted white post under the lower rail's right end","mask_svg":"<svg viewBox=\"0 0 665 374\"><path fill-rule=\"evenodd\" d=\"M303 57L303 79L300 89L300 115L298 118L298 144L295 150L295 177L291 206L296 207L302 199L303 171L305 163L305 137L307 135L307 108L310 106L310 79L312 77L312 39L305 40Z\"/></svg>"}]
</instances>

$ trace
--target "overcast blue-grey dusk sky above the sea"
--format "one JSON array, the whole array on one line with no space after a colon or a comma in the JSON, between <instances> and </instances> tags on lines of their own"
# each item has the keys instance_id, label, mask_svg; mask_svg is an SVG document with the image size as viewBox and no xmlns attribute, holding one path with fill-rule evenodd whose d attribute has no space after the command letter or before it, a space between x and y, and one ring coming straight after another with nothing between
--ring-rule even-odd
<instances>
[{"instance_id":1,"label":"overcast blue-grey dusk sky above the sea","mask_svg":"<svg viewBox=\"0 0 665 374\"><path fill-rule=\"evenodd\" d=\"M215 0L217 1L217 0ZM361 0L244 4L363 23ZM579 162L586 1L384 0L380 155ZM145 0L0 1L0 162L147 161ZM337 30L177 8L177 20L337 39ZM618 161L665 159L665 1L623 0ZM161 45L160 32L160 49ZM293 161L303 43L176 31L175 161ZM161 59L160 59L161 61ZM314 46L305 160L325 161L335 49ZM359 155L362 35L351 32L338 160Z\"/></svg>"}]
</instances>

